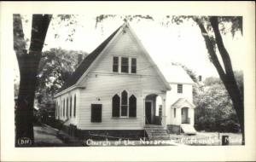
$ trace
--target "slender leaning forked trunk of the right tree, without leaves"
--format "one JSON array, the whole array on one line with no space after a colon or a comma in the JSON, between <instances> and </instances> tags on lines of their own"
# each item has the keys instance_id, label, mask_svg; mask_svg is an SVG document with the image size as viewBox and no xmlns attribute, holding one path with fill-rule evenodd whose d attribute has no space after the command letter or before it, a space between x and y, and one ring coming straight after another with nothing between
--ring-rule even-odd
<instances>
[{"instance_id":1,"label":"slender leaning forked trunk of the right tree, without leaves","mask_svg":"<svg viewBox=\"0 0 256 162\"><path fill-rule=\"evenodd\" d=\"M211 56L212 63L214 67L216 67L218 71L218 75L224 83L226 90L228 91L231 101L233 103L233 107L236 110L236 116L240 123L241 134L242 134L242 142L241 144L245 144L245 135L244 135L244 104L243 97L241 96L241 92L236 84L236 78L234 76L230 55L228 51L224 47L224 43L221 37L221 34L218 29L218 17L213 16L210 17L210 22L212 25L212 29L215 35L215 42L218 47L219 54L222 57L224 63L224 69L218 60L218 56L214 50L214 45L212 44L211 39L208 36L207 30L201 23L201 20L195 19L197 25L201 29L202 37L205 39L207 50L209 55Z\"/></svg>"}]
</instances>

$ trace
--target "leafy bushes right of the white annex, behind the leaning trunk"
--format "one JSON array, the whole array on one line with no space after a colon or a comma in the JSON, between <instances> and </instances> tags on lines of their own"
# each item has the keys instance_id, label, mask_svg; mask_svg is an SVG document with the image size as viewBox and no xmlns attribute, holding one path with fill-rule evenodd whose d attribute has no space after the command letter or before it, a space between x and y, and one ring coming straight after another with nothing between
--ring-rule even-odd
<instances>
[{"instance_id":1,"label":"leafy bushes right of the white annex, behind the leaning trunk","mask_svg":"<svg viewBox=\"0 0 256 162\"><path fill-rule=\"evenodd\" d=\"M235 72L243 89L242 72ZM237 132L240 130L230 95L219 78L206 78L204 89L194 95L195 128L197 130Z\"/></svg>"}]
</instances>

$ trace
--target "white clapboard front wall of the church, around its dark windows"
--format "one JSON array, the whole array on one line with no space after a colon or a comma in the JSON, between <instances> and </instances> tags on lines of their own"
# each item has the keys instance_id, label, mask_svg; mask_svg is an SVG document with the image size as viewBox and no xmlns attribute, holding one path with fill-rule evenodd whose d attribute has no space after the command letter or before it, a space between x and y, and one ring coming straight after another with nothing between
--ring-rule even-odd
<instances>
[{"instance_id":1,"label":"white clapboard front wall of the church, around its dark windows","mask_svg":"<svg viewBox=\"0 0 256 162\"><path fill-rule=\"evenodd\" d=\"M137 58L137 74L113 73L113 55ZM120 63L120 62L119 62ZM165 90L159 75L130 32L121 34L92 67L82 85L79 107L79 129L142 130L144 125L143 90ZM121 94L137 97L137 118L113 118L112 97ZM91 104L102 104L102 122L90 122Z\"/></svg>"}]
</instances>

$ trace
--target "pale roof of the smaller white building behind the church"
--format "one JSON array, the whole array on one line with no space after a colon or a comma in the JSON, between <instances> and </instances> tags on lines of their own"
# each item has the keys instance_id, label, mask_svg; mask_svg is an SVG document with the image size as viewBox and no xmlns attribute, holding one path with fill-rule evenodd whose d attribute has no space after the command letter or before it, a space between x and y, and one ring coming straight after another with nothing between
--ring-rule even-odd
<instances>
[{"instance_id":1,"label":"pale roof of the smaller white building behind the church","mask_svg":"<svg viewBox=\"0 0 256 162\"><path fill-rule=\"evenodd\" d=\"M189 74L181 66L168 66L160 68L167 82L174 84L195 84Z\"/></svg>"}]
</instances>

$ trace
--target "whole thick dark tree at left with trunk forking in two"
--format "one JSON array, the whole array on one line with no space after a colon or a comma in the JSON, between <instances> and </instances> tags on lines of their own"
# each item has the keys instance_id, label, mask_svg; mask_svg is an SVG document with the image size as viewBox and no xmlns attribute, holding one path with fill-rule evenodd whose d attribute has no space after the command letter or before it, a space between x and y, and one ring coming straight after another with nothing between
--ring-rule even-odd
<instances>
[{"instance_id":1,"label":"whole thick dark tree at left with trunk forking in two","mask_svg":"<svg viewBox=\"0 0 256 162\"><path fill-rule=\"evenodd\" d=\"M14 49L20 69L20 89L15 113L15 144L26 137L34 142L33 103L36 90L39 61L42 57L44 39L51 20L51 14L33 14L30 48L26 50L26 41L20 14L13 15Z\"/></svg>"}]
</instances>

